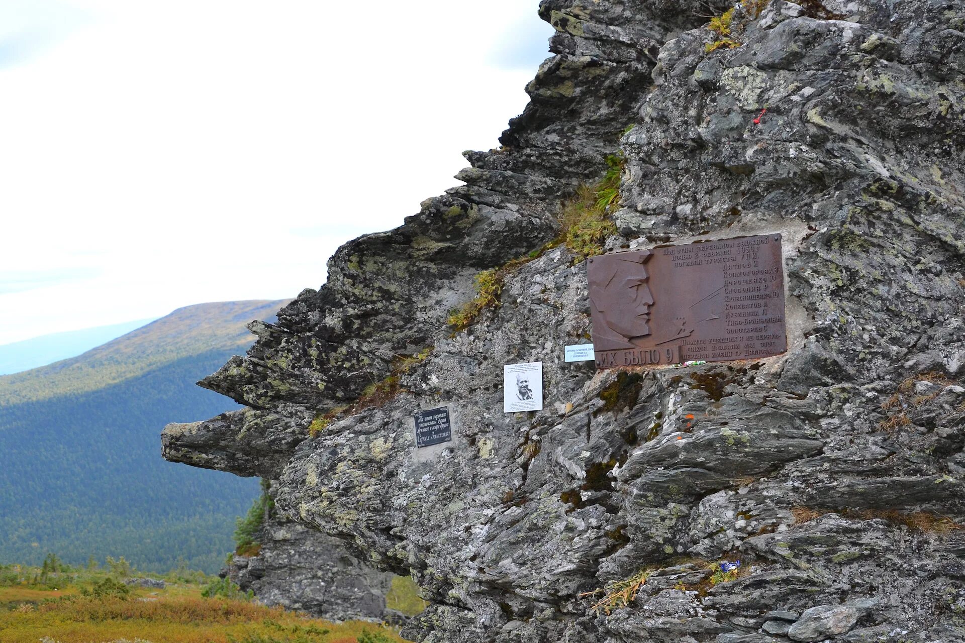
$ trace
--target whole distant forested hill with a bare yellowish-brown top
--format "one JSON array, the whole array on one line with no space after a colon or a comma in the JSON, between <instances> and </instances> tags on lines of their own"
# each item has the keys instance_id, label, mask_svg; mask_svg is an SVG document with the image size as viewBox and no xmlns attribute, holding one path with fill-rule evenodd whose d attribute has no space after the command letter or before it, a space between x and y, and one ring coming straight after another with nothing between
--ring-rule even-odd
<instances>
[{"instance_id":1,"label":"whole distant forested hill with a bare yellowish-brown top","mask_svg":"<svg viewBox=\"0 0 965 643\"><path fill-rule=\"evenodd\" d=\"M165 462L170 421L237 408L195 385L285 302L180 308L84 355L0 377L0 563L125 556L216 571L258 481Z\"/></svg>"}]
</instances>

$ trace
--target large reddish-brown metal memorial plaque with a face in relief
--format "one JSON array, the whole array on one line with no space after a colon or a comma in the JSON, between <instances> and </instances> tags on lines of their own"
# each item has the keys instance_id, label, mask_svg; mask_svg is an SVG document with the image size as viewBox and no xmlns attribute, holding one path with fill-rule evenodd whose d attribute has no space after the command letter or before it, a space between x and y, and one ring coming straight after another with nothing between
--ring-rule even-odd
<instances>
[{"instance_id":1,"label":"large reddish-brown metal memorial plaque with a face in relief","mask_svg":"<svg viewBox=\"0 0 965 643\"><path fill-rule=\"evenodd\" d=\"M787 349L780 234L594 256L587 275L598 368Z\"/></svg>"}]
</instances>

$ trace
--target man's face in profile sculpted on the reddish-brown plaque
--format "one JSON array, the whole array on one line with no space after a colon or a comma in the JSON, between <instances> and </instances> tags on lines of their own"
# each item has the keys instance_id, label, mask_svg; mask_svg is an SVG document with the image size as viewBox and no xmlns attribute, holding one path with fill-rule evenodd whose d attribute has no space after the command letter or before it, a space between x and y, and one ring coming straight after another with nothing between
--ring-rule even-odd
<instances>
[{"instance_id":1,"label":"man's face in profile sculpted on the reddish-brown plaque","mask_svg":"<svg viewBox=\"0 0 965 643\"><path fill-rule=\"evenodd\" d=\"M653 295L648 286L645 263L650 251L595 257L590 279L593 308L608 328L628 343L634 337L650 334L650 307Z\"/></svg>"}]
</instances>

